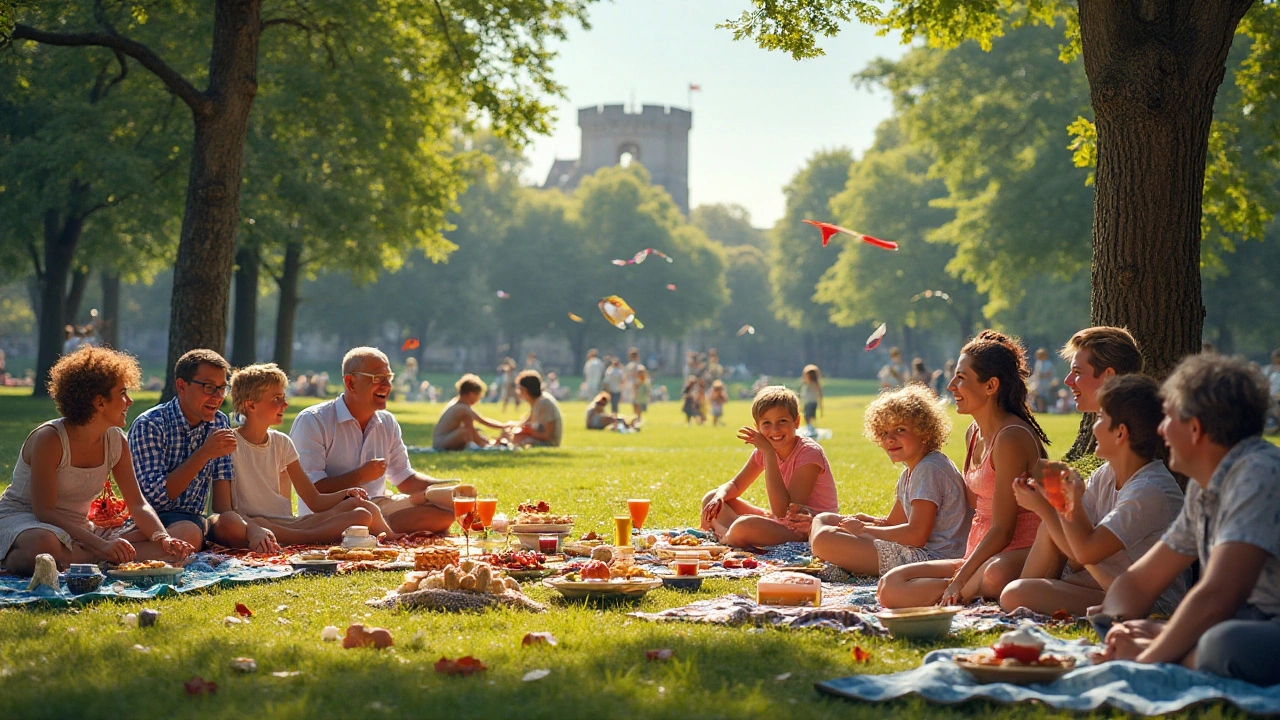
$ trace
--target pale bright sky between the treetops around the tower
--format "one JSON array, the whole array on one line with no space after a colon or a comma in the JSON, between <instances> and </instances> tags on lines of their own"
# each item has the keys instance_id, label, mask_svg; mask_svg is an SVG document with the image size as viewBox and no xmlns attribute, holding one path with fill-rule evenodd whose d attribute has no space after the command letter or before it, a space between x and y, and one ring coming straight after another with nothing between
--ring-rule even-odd
<instances>
[{"instance_id":1,"label":"pale bright sky between the treetops around the tower","mask_svg":"<svg viewBox=\"0 0 1280 720\"><path fill-rule=\"evenodd\" d=\"M792 60L716 24L741 14L748 0L614 0L590 6L591 28L573 27L559 45L550 136L535 138L525 181L541 184L556 158L579 156L577 109L627 104L689 106L690 206L732 202L756 227L785 211L782 187L823 149L855 155L874 141L892 102L882 90L858 88L855 72L876 58L905 53L896 37L851 23L822 42L827 55Z\"/></svg>"}]
</instances>

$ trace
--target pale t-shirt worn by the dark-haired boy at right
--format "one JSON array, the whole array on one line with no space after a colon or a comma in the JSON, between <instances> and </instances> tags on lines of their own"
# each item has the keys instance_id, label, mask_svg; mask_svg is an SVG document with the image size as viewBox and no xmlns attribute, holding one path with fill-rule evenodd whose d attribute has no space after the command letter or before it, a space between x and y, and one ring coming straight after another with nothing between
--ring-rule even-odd
<instances>
[{"instance_id":1,"label":"pale t-shirt worn by the dark-haired boy at right","mask_svg":"<svg viewBox=\"0 0 1280 720\"><path fill-rule=\"evenodd\" d=\"M1124 550L1098 562L1098 566L1114 577L1128 570L1160 542L1181 512L1183 500L1183 491L1178 489L1174 477L1160 460L1139 468L1120 489L1116 489L1111 464L1103 462L1089 475L1080 506L1089 521L1111 530L1124 543ZM1187 584L1179 577L1161 597L1178 603L1185 592Z\"/></svg>"}]
</instances>

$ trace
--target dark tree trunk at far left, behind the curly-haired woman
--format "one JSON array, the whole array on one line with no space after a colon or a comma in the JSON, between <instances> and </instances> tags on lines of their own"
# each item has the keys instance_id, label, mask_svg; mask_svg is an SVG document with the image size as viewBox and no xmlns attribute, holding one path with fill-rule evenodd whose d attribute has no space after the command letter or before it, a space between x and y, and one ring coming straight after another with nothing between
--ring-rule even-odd
<instances>
[{"instance_id":1,"label":"dark tree trunk at far left, behind the curly-haired woman","mask_svg":"<svg viewBox=\"0 0 1280 720\"><path fill-rule=\"evenodd\" d=\"M76 259L76 246L84 229L84 217L79 210L88 186L72 181L70 202L65 214L45 211L45 258L40 287L40 324L36 350L36 386L32 395L49 395L49 372L63 354L63 327L67 307L67 275ZM38 268L37 268L38 270Z\"/></svg>"}]
</instances>

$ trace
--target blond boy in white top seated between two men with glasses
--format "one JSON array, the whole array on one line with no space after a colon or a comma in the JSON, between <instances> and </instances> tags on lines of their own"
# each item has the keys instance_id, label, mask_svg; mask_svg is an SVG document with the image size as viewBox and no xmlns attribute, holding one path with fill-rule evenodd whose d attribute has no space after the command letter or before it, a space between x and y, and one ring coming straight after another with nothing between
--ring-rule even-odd
<instances>
[{"instance_id":1,"label":"blond boy in white top seated between two men with glasses","mask_svg":"<svg viewBox=\"0 0 1280 720\"><path fill-rule=\"evenodd\" d=\"M232 454L234 479L214 483L214 511L219 512L212 537L228 547L253 552L279 552L280 544L324 544L342 541L351 525L370 534L399 537L369 501L364 488L320 493L302 471L289 436L273 430L284 421L289 406L284 389L289 378L274 363L250 365L232 375L232 406L244 418L236 429ZM311 507L297 518L289 486Z\"/></svg>"}]
</instances>

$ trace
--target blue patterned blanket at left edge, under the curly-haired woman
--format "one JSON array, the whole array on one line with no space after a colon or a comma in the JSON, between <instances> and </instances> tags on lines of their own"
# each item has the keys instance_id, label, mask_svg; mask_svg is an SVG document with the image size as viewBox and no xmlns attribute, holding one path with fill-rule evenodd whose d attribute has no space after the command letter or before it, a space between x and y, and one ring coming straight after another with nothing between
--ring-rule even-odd
<instances>
[{"instance_id":1,"label":"blue patterned blanket at left edge, under the curly-haired woman","mask_svg":"<svg viewBox=\"0 0 1280 720\"><path fill-rule=\"evenodd\" d=\"M67 591L65 579L59 579L59 588L55 592L47 585L40 585L35 591L28 591L28 578L15 575L0 575L0 609L19 605L44 603L51 607L68 607L83 605L102 598L150 600L152 597L168 597L175 593L187 593L210 587L225 587L239 583L256 583L264 580L279 580L293 575L293 568L280 566L250 566L239 560L225 560L215 568L212 556L201 553L189 562L183 574L178 577L178 584L155 584L148 588L140 588L111 578L102 580L102 585L96 591L84 594L72 594Z\"/></svg>"}]
</instances>

